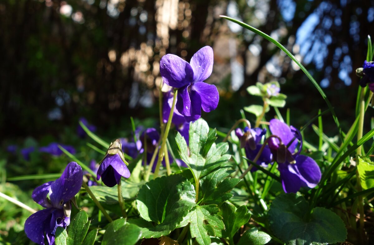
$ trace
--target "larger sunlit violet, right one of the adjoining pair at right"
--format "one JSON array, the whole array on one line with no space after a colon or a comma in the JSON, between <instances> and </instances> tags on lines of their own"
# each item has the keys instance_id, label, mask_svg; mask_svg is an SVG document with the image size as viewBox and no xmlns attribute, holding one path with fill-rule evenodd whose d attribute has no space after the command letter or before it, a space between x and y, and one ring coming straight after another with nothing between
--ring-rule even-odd
<instances>
[{"instance_id":1,"label":"larger sunlit violet, right one of the adjoining pair at right","mask_svg":"<svg viewBox=\"0 0 374 245\"><path fill-rule=\"evenodd\" d=\"M288 193L297 192L301 187L306 186L314 188L321 180L321 170L315 160L300 155L302 147L300 132L278 119L270 120L270 131L282 140L279 142L276 138L270 139L269 147L274 160L278 163L283 190ZM297 145L298 151L295 152Z\"/></svg>"}]
</instances>

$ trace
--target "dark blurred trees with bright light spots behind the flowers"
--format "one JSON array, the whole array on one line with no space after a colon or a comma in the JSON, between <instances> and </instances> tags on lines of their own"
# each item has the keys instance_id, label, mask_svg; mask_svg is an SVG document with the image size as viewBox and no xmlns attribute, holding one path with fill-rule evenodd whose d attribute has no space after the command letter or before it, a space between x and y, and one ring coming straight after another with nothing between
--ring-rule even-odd
<instances>
[{"instance_id":1,"label":"dark blurred trees with bright light spots behind the flowers","mask_svg":"<svg viewBox=\"0 0 374 245\"><path fill-rule=\"evenodd\" d=\"M229 127L240 117L232 108L258 103L245 91L257 81L282 84L294 125L327 108L275 45L219 15L286 46L324 88L343 126L344 118L353 121L354 71L374 35L373 0L3 0L2 138L58 135L81 116L102 131L129 125L129 116L156 117L160 58L173 53L189 61L204 45L215 52L207 82L221 100L203 115L211 126Z\"/></svg>"}]
</instances>

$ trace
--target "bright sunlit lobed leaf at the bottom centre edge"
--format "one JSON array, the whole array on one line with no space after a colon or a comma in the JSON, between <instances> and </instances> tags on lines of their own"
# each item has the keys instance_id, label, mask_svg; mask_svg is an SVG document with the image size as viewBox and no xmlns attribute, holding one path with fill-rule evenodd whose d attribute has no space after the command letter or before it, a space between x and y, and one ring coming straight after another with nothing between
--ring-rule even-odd
<instances>
[{"instance_id":1,"label":"bright sunlit lobed leaf at the bottom centre edge","mask_svg":"<svg viewBox=\"0 0 374 245\"><path fill-rule=\"evenodd\" d=\"M191 237L196 238L197 243L208 245L211 244L210 236L222 235L225 225L222 217L217 214L219 210L214 204L195 206L183 220L183 226L190 223Z\"/></svg>"}]
</instances>

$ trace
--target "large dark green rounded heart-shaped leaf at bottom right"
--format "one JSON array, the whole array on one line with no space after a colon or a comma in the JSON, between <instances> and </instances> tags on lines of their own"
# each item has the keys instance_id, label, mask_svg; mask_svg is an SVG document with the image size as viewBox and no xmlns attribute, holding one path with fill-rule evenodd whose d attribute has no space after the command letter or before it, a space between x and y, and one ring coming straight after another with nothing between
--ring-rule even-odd
<instances>
[{"instance_id":1,"label":"large dark green rounded heart-shaped leaf at bottom right","mask_svg":"<svg viewBox=\"0 0 374 245\"><path fill-rule=\"evenodd\" d=\"M308 211L308 203L302 196L280 195L270 206L270 227L286 244L334 244L345 241L347 229L337 214L316 207L310 219L304 220Z\"/></svg>"}]
</instances>

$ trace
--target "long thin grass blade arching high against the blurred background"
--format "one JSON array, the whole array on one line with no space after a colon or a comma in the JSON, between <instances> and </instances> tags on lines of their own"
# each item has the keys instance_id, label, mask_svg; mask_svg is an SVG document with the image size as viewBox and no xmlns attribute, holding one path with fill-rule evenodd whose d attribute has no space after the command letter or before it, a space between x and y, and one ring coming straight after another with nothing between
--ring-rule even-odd
<instances>
[{"instance_id":1,"label":"long thin grass blade arching high against the blurred background","mask_svg":"<svg viewBox=\"0 0 374 245\"><path fill-rule=\"evenodd\" d=\"M341 127L340 127L340 123L339 123L339 120L335 114L335 111L330 103L330 101L328 100L325 92L322 90L322 88L318 85L318 83L316 82L316 80L312 77L312 75L310 75L310 73L307 71L307 69L305 69L305 67L303 65L301 65L301 63L295 58L295 56L293 56L291 54L290 51L288 51L282 44L280 44L279 42L277 42L274 38L270 37L269 35L265 34L264 32L250 26L250 25L247 25L246 23L244 22L241 22L241 21L237 21L236 19L233 19L233 18L230 18L228 16L224 16L224 15L220 15L221 18L224 18L224 19L227 19L229 21L232 21L234 23L237 23L238 25L240 26L243 26L244 28L248 29L249 31L252 31L254 32L255 34L257 35L260 35L261 37L265 38L266 40L272 42L273 44L275 44L278 48L280 48L283 52L285 52L288 57L290 57L299 67L300 69L305 73L305 75L309 78L309 80L312 82L312 84L316 87L316 89L318 90L318 92L321 94L322 98L325 100L328 108L331 110L331 113L332 113L332 117L334 119L334 122L338 128L338 131L339 131L339 135L340 135L340 138L343 140L344 136L343 136L343 133L342 133L342 130L341 130Z\"/></svg>"}]
</instances>

